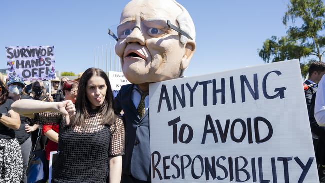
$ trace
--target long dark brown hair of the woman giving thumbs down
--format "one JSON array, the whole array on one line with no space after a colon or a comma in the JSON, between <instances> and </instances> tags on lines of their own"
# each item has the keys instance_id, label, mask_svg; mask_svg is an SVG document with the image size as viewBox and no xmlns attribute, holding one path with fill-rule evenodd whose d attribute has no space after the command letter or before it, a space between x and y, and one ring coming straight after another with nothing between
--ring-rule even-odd
<instances>
[{"instance_id":1,"label":"long dark brown hair of the woman giving thumbs down","mask_svg":"<svg viewBox=\"0 0 325 183\"><path fill-rule=\"evenodd\" d=\"M102 125L113 124L116 119L116 114L113 109L113 92L111 90L108 76L99 68L88 68L81 76L79 81L78 95L76 97L75 109L76 114L71 122L72 126L82 126L85 119L89 118L89 111L91 110L90 101L87 98L86 87L88 80L92 76L99 76L103 78L107 85L107 91L104 103L99 108L99 113L102 116Z\"/></svg>"}]
</instances>

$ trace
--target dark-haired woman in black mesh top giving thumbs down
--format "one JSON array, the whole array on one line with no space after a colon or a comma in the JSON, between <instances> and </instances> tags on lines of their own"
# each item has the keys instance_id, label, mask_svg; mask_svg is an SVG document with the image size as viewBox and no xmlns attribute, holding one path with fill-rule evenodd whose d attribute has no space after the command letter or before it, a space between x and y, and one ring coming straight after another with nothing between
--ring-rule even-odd
<instances>
[{"instance_id":1,"label":"dark-haired woman in black mesh top giving thumbs down","mask_svg":"<svg viewBox=\"0 0 325 183\"><path fill-rule=\"evenodd\" d=\"M59 124L52 182L120 183L125 132L113 110L107 75L89 68L82 75L75 106L71 100L18 100L13 110L41 124Z\"/></svg>"}]
</instances>

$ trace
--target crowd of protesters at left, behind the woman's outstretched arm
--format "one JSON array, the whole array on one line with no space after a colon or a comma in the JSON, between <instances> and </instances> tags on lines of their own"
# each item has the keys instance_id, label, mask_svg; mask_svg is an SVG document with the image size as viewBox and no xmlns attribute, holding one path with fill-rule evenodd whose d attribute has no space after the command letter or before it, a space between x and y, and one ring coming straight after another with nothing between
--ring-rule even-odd
<instances>
[{"instance_id":1,"label":"crowd of protesters at left, behind the woman's outstretched arm","mask_svg":"<svg viewBox=\"0 0 325 183\"><path fill-rule=\"evenodd\" d=\"M28 87L19 77L4 80L0 74L0 182L30 182L27 181L27 171L31 151L45 150L45 165L48 166L49 153L57 150L58 125L35 124L30 118L19 116L11 108L11 104L20 99L27 101L25 105L29 105L31 100L75 102L78 93L77 81L69 81L66 77L62 77L58 82L54 80L51 84L51 94L47 92L49 88L45 82L49 81L37 80L31 82ZM39 133L43 135L36 144ZM44 171L48 177L48 168L44 168Z\"/></svg>"}]
</instances>

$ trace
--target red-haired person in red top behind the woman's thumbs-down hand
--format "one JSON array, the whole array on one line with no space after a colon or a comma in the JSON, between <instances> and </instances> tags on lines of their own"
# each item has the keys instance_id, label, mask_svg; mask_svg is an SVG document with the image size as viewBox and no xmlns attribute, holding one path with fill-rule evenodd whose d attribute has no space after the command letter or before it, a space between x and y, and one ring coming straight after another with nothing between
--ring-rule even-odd
<instances>
[{"instance_id":1,"label":"red-haired person in red top behind the woman's thumbs-down hand","mask_svg":"<svg viewBox=\"0 0 325 183\"><path fill-rule=\"evenodd\" d=\"M64 93L64 100L71 100L72 103L75 103L77 94L78 94L79 83L73 80L65 81L62 87ZM48 142L45 147L45 156L47 159L47 164L49 164L50 152L57 151L58 144L58 125L43 125L43 134L48 137Z\"/></svg>"}]
</instances>

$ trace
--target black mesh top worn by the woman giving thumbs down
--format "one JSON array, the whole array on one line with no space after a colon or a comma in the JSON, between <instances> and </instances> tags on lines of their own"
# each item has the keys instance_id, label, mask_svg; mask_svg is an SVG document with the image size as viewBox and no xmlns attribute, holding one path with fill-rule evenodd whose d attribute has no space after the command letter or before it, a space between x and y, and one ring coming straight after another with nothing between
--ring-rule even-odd
<instances>
[{"instance_id":1,"label":"black mesh top worn by the woman giving thumbs down","mask_svg":"<svg viewBox=\"0 0 325 183\"><path fill-rule=\"evenodd\" d=\"M97 111L89 114L83 126L75 127L65 125L65 117L56 112L35 114L37 124L60 125L53 182L108 182L109 157L124 154L121 116L112 125L101 125Z\"/></svg>"}]
</instances>

